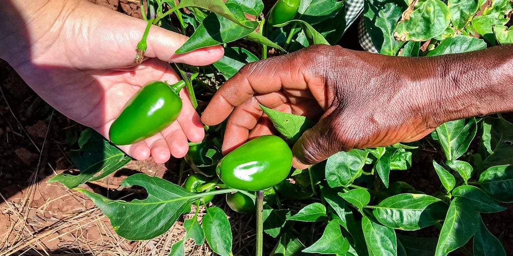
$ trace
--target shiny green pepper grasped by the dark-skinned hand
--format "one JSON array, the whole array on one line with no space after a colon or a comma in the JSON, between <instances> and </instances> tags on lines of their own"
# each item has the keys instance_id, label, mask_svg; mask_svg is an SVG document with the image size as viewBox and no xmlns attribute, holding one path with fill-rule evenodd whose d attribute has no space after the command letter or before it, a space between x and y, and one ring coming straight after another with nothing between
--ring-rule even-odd
<instances>
[{"instance_id":1,"label":"shiny green pepper grasped by the dark-skinned hand","mask_svg":"<svg viewBox=\"0 0 513 256\"><path fill-rule=\"evenodd\" d=\"M228 186L258 191L287 178L292 166L292 151L278 136L265 135L250 140L228 153L215 169Z\"/></svg>"}]
</instances>

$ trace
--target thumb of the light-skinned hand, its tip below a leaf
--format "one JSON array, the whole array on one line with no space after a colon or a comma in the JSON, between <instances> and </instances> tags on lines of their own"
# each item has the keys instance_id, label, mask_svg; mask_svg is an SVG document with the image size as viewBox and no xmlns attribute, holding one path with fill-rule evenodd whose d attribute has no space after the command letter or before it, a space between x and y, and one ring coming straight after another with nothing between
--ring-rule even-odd
<instances>
[{"instance_id":1,"label":"thumb of the light-skinned hand, its tip below a leaf","mask_svg":"<svg viewBox=\"0 0 513 256\"><path fill-rule=\"evenodd\" d=\"M224 49L221 46L209 46L184 54L174 53L188 38L159 26L151 26L146 40L148 48L144 56L192 66L206 66L223 57Z\"/></svg>"}]
</instances>

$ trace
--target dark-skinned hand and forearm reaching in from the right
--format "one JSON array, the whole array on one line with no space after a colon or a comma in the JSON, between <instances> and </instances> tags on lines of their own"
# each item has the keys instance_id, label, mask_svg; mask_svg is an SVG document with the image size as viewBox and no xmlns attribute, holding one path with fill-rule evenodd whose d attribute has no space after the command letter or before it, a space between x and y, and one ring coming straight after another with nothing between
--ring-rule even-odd
<instances>
[{"instance_id":1,"label":"dark-skinned hand and forearm reaching in from the right","mask_svg":"<svg viewBox=\"0 0 513 256\"><path fill-rule=\"evenodd\" d=\"M512 46L410 58L315 45L244 66L202 121L229 116L226 154L272 133L259 103L318 120L292 147L293 165L305 168L339 151L416 141L449 120L512 110L512 88Z\"/></svg>"}]
</instances>

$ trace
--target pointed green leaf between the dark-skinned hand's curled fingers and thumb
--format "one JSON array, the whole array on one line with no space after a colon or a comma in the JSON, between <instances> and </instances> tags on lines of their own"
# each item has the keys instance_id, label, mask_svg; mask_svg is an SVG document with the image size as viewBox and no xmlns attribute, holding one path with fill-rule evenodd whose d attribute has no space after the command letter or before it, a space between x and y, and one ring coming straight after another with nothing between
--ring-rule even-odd
<instances>
[{"instance_id":1,"label":"pointed green leaf between the dark-skinned hand's curled fingers and thumb","mask_svg":"<svg viewBox=\"0 0 513 256\"><path fill-rule=\"evenodd\" d=\"M304 116L272 110L262 104L260 104L260 108L269 119L271 119L276 130L278 130L291 145L298 141L301 135L315 124L312 120Z\"/></svg>"}]
</instances>

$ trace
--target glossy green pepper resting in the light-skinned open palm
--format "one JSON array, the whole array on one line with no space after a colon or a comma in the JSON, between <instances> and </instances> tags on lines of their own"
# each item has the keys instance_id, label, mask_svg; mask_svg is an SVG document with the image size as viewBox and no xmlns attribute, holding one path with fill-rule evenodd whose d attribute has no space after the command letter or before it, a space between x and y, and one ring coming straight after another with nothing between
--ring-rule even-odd
<instances>
[{"instance_id":1,"label":"glossy green pepper resting in the light-skinned open palm","mask_svg":"<svg viewBox=\"0 0 513 256\"><path fill-rule=\"evenodd\" d=\"M148 82L132 96L110 126L110 141L128 145L164 130L182 110L178 93L184 86L183 80L171 86L161 81Z\"/></svg>"}]
</instances>

